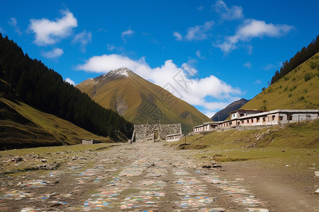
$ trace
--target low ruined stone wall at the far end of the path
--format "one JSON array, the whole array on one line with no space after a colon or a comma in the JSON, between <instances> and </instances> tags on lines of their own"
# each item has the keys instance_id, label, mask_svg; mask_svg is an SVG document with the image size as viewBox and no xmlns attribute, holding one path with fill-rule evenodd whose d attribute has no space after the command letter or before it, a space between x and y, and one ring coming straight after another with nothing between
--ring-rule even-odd
<instances>
[{"instance_id":1,"label":"low ruined stone wall at the far end of the path","mask_svg":"<svg viewBox=\"0 0 319 212\"><path fill-rule=\"evenodd\" d=\"M181 134L181 124L136 124L132 141L165 141L170 134Z\"/></svg>"}]
</instances>

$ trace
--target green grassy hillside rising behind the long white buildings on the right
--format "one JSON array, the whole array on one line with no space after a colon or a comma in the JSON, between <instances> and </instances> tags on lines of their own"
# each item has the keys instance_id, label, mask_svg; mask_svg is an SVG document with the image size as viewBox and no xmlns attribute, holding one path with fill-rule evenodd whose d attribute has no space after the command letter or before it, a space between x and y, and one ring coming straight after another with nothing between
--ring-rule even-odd
<instances>
[{"instance_id":1,"label":"green grassy hillside rising behind the long white buildings on the right","mask_svg":"<svg viewBox=\"0 0 319 212\"><path fill-rule=\"evenodd\" d=\"M318 109L319 70L310 68L310 63L319 64L319 52L288 73L276 83L256 95L241 109ZM305 81L306 74L311 76Z\"/></svg>"}]
</instances>

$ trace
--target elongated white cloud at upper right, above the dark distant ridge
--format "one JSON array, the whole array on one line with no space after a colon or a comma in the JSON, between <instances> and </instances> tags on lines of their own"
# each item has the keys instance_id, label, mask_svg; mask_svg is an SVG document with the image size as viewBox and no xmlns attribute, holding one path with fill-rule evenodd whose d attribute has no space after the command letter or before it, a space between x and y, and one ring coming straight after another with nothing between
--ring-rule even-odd
<instances>
[{"instance_id":1,"label":"elongated white cloud at upper right, above the dark distant ridge","mask_svg":"<svg viewBox=\"0 0 319 212\"><path fill-rule=\"evenodd\" d=\"M228 36L225 41L217 47L219 47L224 54L228 54L234 49L237 49L238 42L249 42L254 37L281 37L286 33L289 33L293 29L291 25L279 25L272 23L265 23L264 20L245 20L245 23L237 29L235 35ZM252 51L252 48L249 49Z\"/></svg>"}]
</instances>

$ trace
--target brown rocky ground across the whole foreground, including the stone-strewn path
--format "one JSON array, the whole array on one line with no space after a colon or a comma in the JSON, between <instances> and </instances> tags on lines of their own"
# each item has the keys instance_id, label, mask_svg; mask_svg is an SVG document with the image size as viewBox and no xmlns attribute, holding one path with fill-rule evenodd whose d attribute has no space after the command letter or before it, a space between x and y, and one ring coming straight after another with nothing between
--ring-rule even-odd
<instances>
[{"instance_id":1,"label":"brown rocky ground across the whole foreground, including the stone-strewn path","mask_svg":"<svg viewBox=\"0 0 319 212\"><path fill-rule=\"evenodd\" d=\"M274 192L256 162L220 167L195 153L159 142L2 156L0 211L319 211L319 195L293 203L298 190Z\"/></svg>"}]
</instances>

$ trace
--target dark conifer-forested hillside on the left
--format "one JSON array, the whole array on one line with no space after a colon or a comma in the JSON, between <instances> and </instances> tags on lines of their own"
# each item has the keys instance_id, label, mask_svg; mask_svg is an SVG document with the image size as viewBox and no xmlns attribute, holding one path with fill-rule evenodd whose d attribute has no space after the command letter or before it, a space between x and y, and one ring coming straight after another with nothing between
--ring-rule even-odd
<instances>
[{"instance_id":1,"label":"dark conifer-forested hillside on the left","mask_svg":"<svg viewBox=\"0 0 319 212\"><path fill-rule=\"evenodd\" d=\"M13 40L0 33L1 95L54 114L94 134L113 139L118 131L128 137L133 134L130 131L133 124L96 104L41 61L30 59Z\"/></svg>"}]
</instances>

